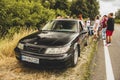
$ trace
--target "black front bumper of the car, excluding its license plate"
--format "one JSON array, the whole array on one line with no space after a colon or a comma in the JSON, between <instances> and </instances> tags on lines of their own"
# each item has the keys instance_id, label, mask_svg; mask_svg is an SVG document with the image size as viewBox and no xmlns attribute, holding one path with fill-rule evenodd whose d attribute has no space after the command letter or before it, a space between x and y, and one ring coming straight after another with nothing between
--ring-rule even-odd
<instances>
[{"instance_id":1,"label":"black front bumper of the car, excluding its license plate","mask_svg":"<svg viewBox=\"0 0 120 80\"><path fill-rule=\"evenodd\" d=\"M39 59L39 63L37 65L43 65L43 66L54 66L54 67L61 67L61 66L70 66L71 60L72 60L72 52L67 54L36 54L32 52L22 51L18 48L15 49L16 58L20 60L23 63L30 63L30 64L36 64L28 61L24 61L22 59L22 56L28 56L32 58Z\"/></svg>"}]
</instances>

